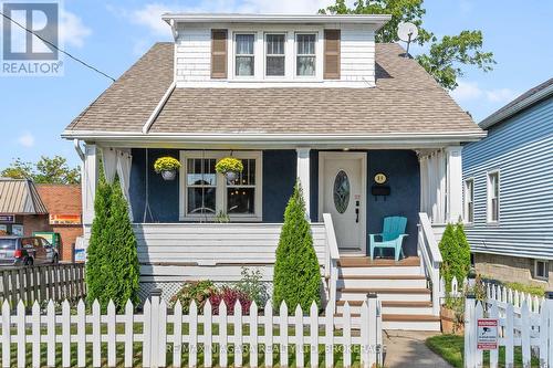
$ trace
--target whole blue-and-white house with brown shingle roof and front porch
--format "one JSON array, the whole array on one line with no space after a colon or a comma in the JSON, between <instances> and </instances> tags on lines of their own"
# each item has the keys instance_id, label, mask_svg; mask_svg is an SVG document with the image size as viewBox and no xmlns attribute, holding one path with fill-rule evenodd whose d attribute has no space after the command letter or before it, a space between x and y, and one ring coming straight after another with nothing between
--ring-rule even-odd
<instances>
[{"instance_id":1,"label":"whole blue-and-white house with brown shingle roof and front porch","mask_svg":"<svg viewBox=\"0 0 553 368\"><path fill-rule=\"evenodd\" d=\"M270 283L299 178L336 313L376 292L385 328L439 329L437 240L462 214L462 145L486 134L398 44L375 42L390 17L163 18L175 41L63 132L84 162L85 239L102 155L129 201L143 297L241 266ZM154 171L164 156L180 160L176 180ZM228 156L244 166L230 182L215 170ZM392 215L407 218L406 256L371 260L368 234Z\"/></svg>"}]
</instances>

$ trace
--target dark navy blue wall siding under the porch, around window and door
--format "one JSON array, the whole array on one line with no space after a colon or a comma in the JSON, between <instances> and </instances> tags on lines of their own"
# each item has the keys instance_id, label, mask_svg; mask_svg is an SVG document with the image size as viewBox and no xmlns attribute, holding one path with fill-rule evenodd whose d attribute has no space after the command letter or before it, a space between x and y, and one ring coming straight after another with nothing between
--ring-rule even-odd
<instances>
[{"instance_id":1,"label":"dark navy blue wall siding under the porch, around window and door","mask_svg":"<svg viewBox=\"0 0 553 368\"><path fill-rule=\"evenodd\" d=\"M405 215L408 219L404 246L409 255L417 252L417 223L419 211L420 179L418 159L411 150L368 150L367 167L367 233L382 231L387 215ZM179 157L177 149L133 149L131 171L131 203L134 220L143 222L146 203L146 175L149 180L149 212L146 222L179 222L179 180L165 181L154 171L154 162L161 156ZM386 172L392 194L384 200L371 194L376 172ZM311 219L319 221L319 151L311 153ZM295 150L263 151L263 222L282 222L284 209L296 179Z\"/></svg>"}]
</instances>

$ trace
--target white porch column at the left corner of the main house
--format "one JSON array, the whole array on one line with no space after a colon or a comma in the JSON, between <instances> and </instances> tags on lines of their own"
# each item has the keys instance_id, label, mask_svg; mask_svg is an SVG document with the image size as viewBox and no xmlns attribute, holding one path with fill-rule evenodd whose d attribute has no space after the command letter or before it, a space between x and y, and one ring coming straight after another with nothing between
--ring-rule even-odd
<instances>
[{"instance_id":1,"label":"white porch column at the left corner of the main house","mask_svg":"<svg viewBox=\"0 0 553 368\"><path fill-rule=\"evenodd\" d=\"M90 225L94 220L94 197L98 182L96 145L86 145L84 149L83 177L81 179L83 197L83 224Z\"/></svg>"}]
</instances>

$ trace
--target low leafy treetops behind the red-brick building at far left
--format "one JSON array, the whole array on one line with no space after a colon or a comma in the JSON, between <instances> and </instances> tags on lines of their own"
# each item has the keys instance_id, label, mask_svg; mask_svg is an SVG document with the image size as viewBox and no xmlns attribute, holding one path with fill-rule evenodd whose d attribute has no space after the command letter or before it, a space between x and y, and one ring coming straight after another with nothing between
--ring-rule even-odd
<instances>
[{"instance_id":1,"label":"low leafy treetops behind the red-brick building at far left","mask_svg":"<svg viewBox=\"0 0 553 368\"><path fill-rule=\"evenodd\" d=\"M36 183L75 185L81 182L81 170L71 168L67 159L61 156L52 158L42 156L33 162L14 159L9 167L0 171L0 176L13 179L30 179Z\"/></svg>"}]
</instances>

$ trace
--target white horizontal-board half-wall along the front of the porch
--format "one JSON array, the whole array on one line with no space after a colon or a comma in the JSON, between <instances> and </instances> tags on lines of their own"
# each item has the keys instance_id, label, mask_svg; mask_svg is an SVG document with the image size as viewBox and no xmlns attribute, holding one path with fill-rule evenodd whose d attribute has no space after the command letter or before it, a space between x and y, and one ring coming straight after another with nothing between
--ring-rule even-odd
<instances>
[{"instance_id":1,"label":"white horizontal-board half-wall along the front of the porch","mask_svg":"<svg viewBox=\"0 0 553 368\"><path fill-rule=\"evenodd\" d=\"M272 281L280 223L135 224L143 282L240 280L241 266ZM313 223L313 244L324 262L324 224Z\"/></svg>"}]
</instances>

